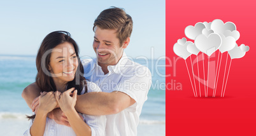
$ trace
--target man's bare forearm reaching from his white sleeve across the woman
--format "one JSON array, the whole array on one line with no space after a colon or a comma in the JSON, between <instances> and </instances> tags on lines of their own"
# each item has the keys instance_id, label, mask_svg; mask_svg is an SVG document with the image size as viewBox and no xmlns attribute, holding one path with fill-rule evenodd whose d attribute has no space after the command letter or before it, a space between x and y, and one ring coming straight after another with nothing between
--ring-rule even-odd
<instances>
[{"instance_id":1,"label":"man's bare forearm reaching from his white sleeve across the woman","mask_svg":"<svg viewBox=\"0 0 256 136\"><path fill-rule=\"evenodd\" d=\"M90 92L78 95L75 108L83 114L108 115L117 114L134 103L135 100L123 92Z\"/></svg>"}]
</instances>

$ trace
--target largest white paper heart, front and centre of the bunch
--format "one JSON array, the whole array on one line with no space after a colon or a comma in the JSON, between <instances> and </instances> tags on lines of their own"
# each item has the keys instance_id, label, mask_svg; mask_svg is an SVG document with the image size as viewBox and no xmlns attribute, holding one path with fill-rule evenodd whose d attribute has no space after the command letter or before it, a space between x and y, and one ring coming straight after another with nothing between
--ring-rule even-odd
<instances>
[{"instance_id":1,"label":"largest white paper heart, front and centre of the bunch","mask_svg":"<svg viewBox=\"0 0 256 136\"><path fill-rule=\"evenodd\" d=\"M218 34L212 33L208 37L201 34L195 39L196 47L206 55L211 56L222 44L222 39Z\"/></svg>"}]
</instances>

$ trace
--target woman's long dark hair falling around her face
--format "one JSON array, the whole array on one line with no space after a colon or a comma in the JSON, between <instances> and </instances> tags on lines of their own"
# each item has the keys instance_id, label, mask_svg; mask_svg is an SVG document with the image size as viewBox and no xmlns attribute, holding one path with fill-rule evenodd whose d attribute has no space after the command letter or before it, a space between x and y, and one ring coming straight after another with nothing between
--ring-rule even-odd
<instances>
[{"instance_id":1,"label":"woman's long dark hair falling around her face","mask_svg":"<svg viewBox=\"0 0 256 136\"><path fill-rule=\"evenodd\" d=\"M85 93L87 93L87 82L83 77L83 65L79 58L79 48L74 39L71 38L69 32L66 31L54 31L48 34L45 39L43 39L41 46L38 50L38 55L36 56L36 68L38 74L36 75L36 84L41 89L41 92L55 92L57 91L56 85L53 81L50 71L48 70L48 65L50 64L50 57L53 48L62 43L71 43L75 48L76 57L78 58L78 67L76 69L75 78L73 81L68 82L67 90L69 88L75 87L78 95L81 94L83 87L85 86ZM34 119L35 115L27 116L29 119Z\"/></svg>"}]
</instances>

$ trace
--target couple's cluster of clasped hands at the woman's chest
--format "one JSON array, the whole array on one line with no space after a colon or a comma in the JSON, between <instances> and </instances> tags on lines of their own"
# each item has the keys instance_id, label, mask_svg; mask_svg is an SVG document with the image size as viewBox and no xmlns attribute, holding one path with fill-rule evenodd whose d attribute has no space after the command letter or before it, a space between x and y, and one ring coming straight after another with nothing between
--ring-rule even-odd
<instances>
[{"instance_id":1,"label":"couple's cluster of clasped hands at the woman's chest","mask_svg":"<svg viewBox=\"0 0 256 136\"><path fill-rule=\"evenodd\" d=\"M66 92L42 92L39 97L33 100L32 111L44 112L48 117L54 119L60 125L69 125L68 118L65 113L75 110L77 90L70 88ZM79 114L80 118L83 117Z\"/></svg>"}]
</instances>

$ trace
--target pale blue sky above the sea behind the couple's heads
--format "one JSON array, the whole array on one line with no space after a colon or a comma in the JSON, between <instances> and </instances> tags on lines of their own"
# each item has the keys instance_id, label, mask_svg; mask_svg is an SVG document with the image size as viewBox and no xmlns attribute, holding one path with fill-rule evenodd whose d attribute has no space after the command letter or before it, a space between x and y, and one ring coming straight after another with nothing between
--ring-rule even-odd
<instances>
[{"instance_id":1,"label":"pale blue sky above the sea behind the couple's heads","mask_svg":"<svg viewBox=\"0 0 256 136\"><path fill-rule=\"evenodd\" d=\"M134 21L128 56L165 55L165 1L1 1L0 55L36 55L43 38L63 30L80 46L80 56L95 57L93 23L110 6L124 8ZM152 55L153 50L153 55Z\"/></svg>"}]
</instances>

